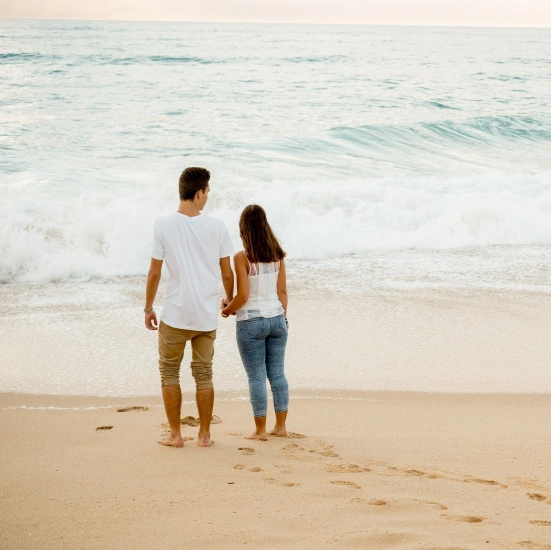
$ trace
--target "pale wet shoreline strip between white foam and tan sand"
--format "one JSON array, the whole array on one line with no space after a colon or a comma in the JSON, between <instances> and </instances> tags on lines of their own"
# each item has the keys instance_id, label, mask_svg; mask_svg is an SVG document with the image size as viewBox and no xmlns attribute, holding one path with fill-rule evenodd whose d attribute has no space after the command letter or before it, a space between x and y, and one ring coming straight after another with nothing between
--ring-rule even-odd
<instances>
[{"instance_id":1,"label":"pale wet shoreline strip between white foam and tan sand","mask_svg":"<svg viewBox=\"0 0 551 550\"><path fill-rule=\"evenodd\" d=\"M20 289L0 317L0 388L19 393L158 395L156 334L142 326L141 282L108 285L89 303L61 285ZM1 290L1 289L0 289ZM50 290L53 294L50 293ZM0 293L1 294L1 293ZM39 293L40 294L40 293ZM54 303L54 306L47 306ZM18 305L19 304L19 305ZM314 296L289 307L291 391L551 393L551 295L393 291ZM193 389L184 356L181 383ZM219 395L247 394L235 322L221 320L214 358Z\"/></svg>"}]
</instances>

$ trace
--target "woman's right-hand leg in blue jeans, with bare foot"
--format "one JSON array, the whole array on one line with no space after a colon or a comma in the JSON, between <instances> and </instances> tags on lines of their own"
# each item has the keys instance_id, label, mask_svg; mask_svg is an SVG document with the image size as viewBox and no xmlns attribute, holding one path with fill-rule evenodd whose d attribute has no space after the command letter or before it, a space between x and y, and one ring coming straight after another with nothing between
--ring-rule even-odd
<instances>
[{"instance_id":1,"label":"woman's right-hand leg in blue jeans, with bare foot","mask_svg":"<svg viewBox=\"0 0 551 550\"><path fill-rule=\"evenodd\" d=\"M287 435L287 411L289 409L289 384L285 377L285 347L287 326L283 315L268 319L270 335L266 338L266 374L274 396L276 423L271 435Z\"/></svg>"}]
</instances>

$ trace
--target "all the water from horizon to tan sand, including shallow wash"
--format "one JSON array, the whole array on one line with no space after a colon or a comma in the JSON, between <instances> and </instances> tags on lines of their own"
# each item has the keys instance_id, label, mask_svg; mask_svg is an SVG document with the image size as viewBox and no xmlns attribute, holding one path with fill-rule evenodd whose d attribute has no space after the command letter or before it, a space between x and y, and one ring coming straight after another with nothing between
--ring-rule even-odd
<instances>
[{"instance_id":1,"label":"all the water from horizon to tan sand, including shallow wash","mask_svg":"<svg viewBox=\"0 0 551 550\"><path fill-rule=\"evenodd\" d=\"M152 224L203 165L289 253L293 392L549 391L550 91L551 30L0 21L0 389L158 393Z\"/></svg>"}]
</instances>

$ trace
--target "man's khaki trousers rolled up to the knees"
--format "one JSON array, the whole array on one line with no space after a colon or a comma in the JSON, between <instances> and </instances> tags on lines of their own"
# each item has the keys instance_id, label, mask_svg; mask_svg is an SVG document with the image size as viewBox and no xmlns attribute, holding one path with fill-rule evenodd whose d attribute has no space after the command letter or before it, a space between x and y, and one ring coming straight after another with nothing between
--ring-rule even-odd
<instances>
[{"instance_id":1,"label":"man's khaki trousers rolled up to the knees","mask_svg":"<svg viewBox=\"0 0 551 550\"><path fill-rule=\"evenodd\" d=\"M180 383L180 364L184 357L186 343L191 340L191 372L198 390L213 387L212 359L216 330L201 332L169 327L159 324L159 370L161 385L173 386Z\"/></svg>"}]
</instances>

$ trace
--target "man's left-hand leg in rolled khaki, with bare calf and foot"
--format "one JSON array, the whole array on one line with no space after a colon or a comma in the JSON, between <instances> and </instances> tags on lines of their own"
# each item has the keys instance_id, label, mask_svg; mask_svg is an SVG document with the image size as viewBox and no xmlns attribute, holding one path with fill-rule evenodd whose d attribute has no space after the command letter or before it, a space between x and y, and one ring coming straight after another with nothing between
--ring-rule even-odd
<instances>
[{"instance_id":1,"label":"man's left-hand leg in rolled khaki, with bare calf and foot","mask_svg":"<svg viewBox=\"0 0 551 550\"><path fill-rule=\"evenodd\" d=\"M159 326L159 370L163 388L163 402L170 425L170 435L159 443L168 447L183 447L180 431L182 390L180 389L180 364L188 340L188 331L169 327L161 322Z\"/></svg>"}]
</instances>

